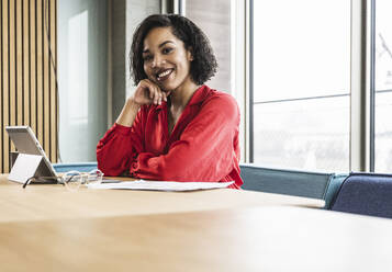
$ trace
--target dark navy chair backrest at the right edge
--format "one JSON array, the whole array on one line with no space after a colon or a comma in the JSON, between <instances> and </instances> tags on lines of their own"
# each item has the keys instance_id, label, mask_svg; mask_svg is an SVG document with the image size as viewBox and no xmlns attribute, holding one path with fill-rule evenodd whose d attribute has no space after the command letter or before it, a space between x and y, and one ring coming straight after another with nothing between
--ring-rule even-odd
<instances>
[{"instance_id":1,"label":"dark navy chair backrest at the right edge","mask_svg":"<svg viewBox=\"0 0 392 272\"><path fill-rule=\"evenodd\" d=\"M392 174L350 173L331 209L392 218Z\"/></svg>"}]
</instances>

